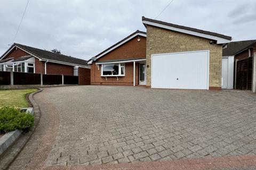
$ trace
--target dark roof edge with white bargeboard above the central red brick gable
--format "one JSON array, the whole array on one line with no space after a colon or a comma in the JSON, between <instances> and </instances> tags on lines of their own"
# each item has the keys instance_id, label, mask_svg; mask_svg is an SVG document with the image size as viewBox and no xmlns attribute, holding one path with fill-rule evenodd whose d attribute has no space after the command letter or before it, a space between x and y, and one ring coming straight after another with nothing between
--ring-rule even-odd
<instances>
[{"instance_id":1,"label":"dark roof edge with white bargeboard above the central red brick gable","mask_svg":"<svg viewBox=\"0 0 256 170\"><path fill-rule=\"evenodd\" d=\"M124 39L122 39L121 41L118 41L118 42L117 42L116 44L114 44L113 46L111 46L111 47L109 47L109 48L103 50L103 52L101 52L101 53L95 55L94 57L96 57L97 59L100 58L101 56L105 55L105 53L106 53L106 54L109 53L111 50L114 50L114 49L117 48L119 45L122 45L122 43L125 43L126 40L129 40L130 38L132 38L132 37L135 36L135 35L141 35L141 36L142 36L142 35L145 35L145 37L146 37L147 33L146 33L146 32L143 32L143 31L137 30L137 31L133 32L131 35L129 35L129 36L125 37ZM93 58L93 57L92 57L92 58ZM88 63L91 62L92 58L91 58L90 60L88 60Z\"/></svg>"}]
</instances>

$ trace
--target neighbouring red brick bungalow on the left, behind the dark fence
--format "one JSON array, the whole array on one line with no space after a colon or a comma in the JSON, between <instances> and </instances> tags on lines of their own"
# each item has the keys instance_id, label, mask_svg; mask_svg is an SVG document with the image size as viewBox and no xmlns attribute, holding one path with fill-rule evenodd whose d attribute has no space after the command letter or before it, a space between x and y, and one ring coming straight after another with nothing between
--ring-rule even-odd
<instances>
[{"instance_id":1,"label":"neighbouring red brick bungalow on the left, behind the dark fence","mask_svg":"<svg viewBox=\"0 0 256 170\"><path fill-rule=\"evenodd\" d=\"M75 76L81 73L89 82L91 72L85 60L17 43L0 57L0 71Z\"/></svg>"}]
</instances>

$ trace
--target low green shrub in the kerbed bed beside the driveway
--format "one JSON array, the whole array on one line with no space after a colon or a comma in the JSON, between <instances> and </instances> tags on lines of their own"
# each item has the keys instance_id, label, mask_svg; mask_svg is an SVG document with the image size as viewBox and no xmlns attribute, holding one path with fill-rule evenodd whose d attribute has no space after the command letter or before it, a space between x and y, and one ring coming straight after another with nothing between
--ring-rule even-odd
<instances>
[{"instance_id":1,"label":"low green shrub in the kerbed bed beside the driveway","mask_svg":"<svg viewBox=\"0 0 256 170\"><path fill-rule=\"evenodd\" d=\"M0 108L0 133L6 133L20 129L28 132L34 125L34 116L21 112L19 108Z\"/></svg>"}]
</instances>

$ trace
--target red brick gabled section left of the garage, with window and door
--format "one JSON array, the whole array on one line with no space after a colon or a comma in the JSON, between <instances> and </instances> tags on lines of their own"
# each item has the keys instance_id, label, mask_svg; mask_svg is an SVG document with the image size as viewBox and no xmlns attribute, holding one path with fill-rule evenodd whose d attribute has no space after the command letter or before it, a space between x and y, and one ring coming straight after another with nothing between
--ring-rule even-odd
<instances>
[{"instance_id":1,"label":"red brick gabled section left of the garage, with window and door","mask_svg":"<svg viewBox=\"0 0 256 170\"><path fill-rule=\"evenodd\" d=\"M146 85L146 32L133 32L88 63L92 85Z\"/></svg>"}]
</instances>

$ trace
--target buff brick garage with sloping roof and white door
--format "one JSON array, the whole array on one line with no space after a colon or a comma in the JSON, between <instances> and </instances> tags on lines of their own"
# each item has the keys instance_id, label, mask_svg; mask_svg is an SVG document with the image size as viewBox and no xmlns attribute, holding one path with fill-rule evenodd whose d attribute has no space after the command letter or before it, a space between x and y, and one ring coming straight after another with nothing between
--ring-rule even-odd
<instances>
[{"instance_id":1,"label":"buff brick garage with sloping roof and white door","mask_svg":"<svg viewBox=\"0 0 256 170\"><path fill-rule=\"evenodd\" d=\"M146 86L221 90L222 46L231 37L148 19Z\"/></svg>"}]
</instances>

